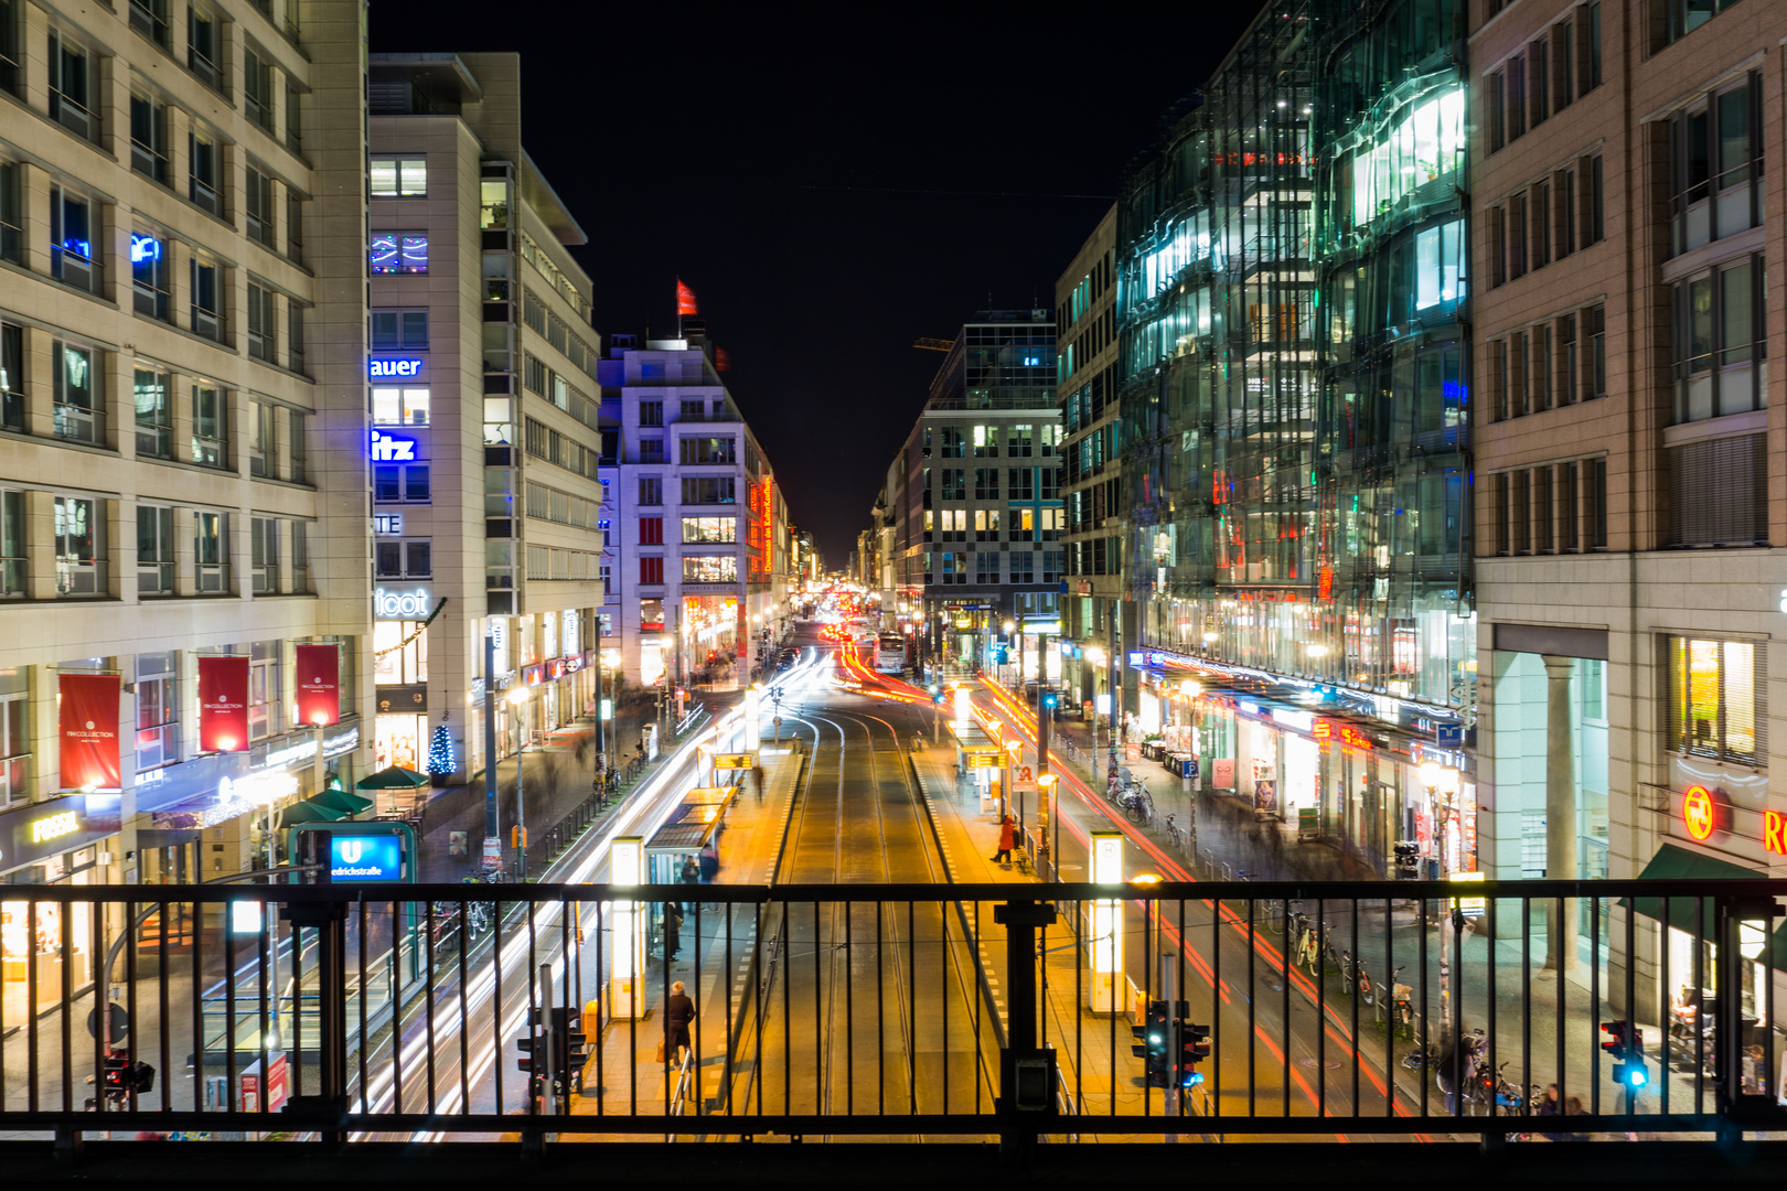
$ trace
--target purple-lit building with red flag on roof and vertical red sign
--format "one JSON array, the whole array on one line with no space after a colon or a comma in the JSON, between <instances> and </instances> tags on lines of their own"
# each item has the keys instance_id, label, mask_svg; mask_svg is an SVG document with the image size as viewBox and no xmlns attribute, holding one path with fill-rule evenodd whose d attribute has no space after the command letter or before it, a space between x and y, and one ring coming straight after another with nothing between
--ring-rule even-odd
<instances>
[{"instance_id":1,"label":"purple-lit building with red flag on roof and vertical red sign","mask_svg":"<svg viewBox=\"0 0 1787 1191\"><path fill-rule=\"evenodd\" d=\"M793 527L770 462L693 321L681 339L613 336L602 402L617 427L611 596L629 684L745 680L784 612Z\"/></svg>"}]
</instances>

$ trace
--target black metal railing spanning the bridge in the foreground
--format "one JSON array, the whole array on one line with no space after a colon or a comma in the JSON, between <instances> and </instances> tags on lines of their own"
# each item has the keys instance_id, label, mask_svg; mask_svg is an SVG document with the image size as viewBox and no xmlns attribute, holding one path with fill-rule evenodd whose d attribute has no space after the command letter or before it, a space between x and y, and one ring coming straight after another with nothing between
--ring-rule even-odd
<instances>
[{"instance_id":1,"label":"black metal railing spanning the bridge in the foreground","mask_svg":"<svg viewBox=\"0 0 1787 1191\"><path fill-rule=\"evenodd\" d=\"M1458 895L14 887L0 1129L1490 1145L1787 1129L1780 882ZM1154 1070L1151 1007L1174 1045L1194 1037L1181 1025L1208 1034L1208 1057ZM1555 1118L1537 1111L1548 1084Z\"/></svg>"}]
</instances>

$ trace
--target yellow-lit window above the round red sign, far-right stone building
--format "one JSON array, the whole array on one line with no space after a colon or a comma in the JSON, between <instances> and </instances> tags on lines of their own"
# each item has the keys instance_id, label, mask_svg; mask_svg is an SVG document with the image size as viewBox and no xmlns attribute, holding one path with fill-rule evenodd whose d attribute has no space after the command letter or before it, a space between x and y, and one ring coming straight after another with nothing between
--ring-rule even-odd
<instances>
[{"instance_id":1,"label":"yellow-lit window above the round red sign, far-right stone building","mask_svg":"<svg viewBox=\"0 0 1787 1191\"><path fill-rule=\"evenodd\" d=\"M1767 768L1767 650L1667 637L1669 750Z\"/></svg>"}]
</instances>

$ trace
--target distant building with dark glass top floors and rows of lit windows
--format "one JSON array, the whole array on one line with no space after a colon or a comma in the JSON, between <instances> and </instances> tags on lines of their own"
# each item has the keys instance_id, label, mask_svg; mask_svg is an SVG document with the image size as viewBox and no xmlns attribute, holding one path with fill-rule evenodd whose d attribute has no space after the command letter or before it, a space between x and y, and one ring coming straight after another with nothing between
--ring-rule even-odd
<instances>
[{"instance_id":1,"label":"distant building with dark glass top floors and rows of lit windows","mask_svg":"<svg viewBox=\"0 0 1787 1191\"><path fill-rule=\"evenodd\" d=\"M922 591L926 650L949 666L1017 662L1004 623L1060 634L1061 418L1053 311L983 311L944 357L902 446L901 587ZM1001 645L1003 643L1003 645ZM1049 650L1049 673L1060 652Z\"/></svg>"}]
</instances>

